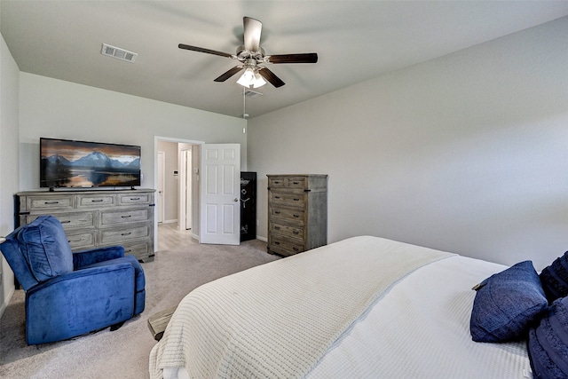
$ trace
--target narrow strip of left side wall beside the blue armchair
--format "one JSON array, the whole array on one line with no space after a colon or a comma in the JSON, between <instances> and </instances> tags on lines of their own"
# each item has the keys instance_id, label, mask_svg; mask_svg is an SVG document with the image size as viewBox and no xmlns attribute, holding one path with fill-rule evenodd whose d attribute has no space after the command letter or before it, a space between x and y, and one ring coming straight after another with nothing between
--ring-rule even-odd
<instances>
[{"instance_id":1,"label":"narrow strip of left side wall beside the blue armchair","mask_svg":"<svg viewBox=\"0 0 568 379\"><path fill-rule=\"evenodd\" d=\"M14 228L13 194L18 192L18 108L20 70L0 38L0 236ZM14 276L0 255L0 317L12 298Z\"/></svg>"}]
</instances>

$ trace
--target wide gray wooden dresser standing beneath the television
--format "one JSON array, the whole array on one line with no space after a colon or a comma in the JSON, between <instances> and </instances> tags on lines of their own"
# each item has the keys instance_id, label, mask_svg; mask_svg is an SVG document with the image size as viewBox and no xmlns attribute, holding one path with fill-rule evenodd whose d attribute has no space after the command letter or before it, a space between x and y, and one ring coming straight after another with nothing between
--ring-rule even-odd
<instances>
[{"instance_id":1,"label":"wide gray wooden dresser standing beneath the television","mask_svg":"<svg viewBox=\"0 0 568 379\"><path fill-rule=\"evenodd\" d=\"M122 245L142 262L154 260L154 189L16 193L19 225L57 217L73 251Z\"/></svg>"}]
</instances>

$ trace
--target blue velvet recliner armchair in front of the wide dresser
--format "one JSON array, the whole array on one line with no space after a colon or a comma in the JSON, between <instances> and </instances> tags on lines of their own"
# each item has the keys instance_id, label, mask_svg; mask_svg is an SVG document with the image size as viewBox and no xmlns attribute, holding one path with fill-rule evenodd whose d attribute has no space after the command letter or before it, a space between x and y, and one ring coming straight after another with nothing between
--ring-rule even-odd
<instances>
[{"instance_id":1,"label":"blue velvet recliner armchair in front of the wide dresser","mask_svg":"<svg viewBox=\"0 0 568 379\"><path fill-rule=\"evenodd\" d=\"M28 344L120 325L144 311L146 279L137 259L121 246L72 253L55 217L20 226L0 250L26 291Z\"/></svg>"}]
</instances>

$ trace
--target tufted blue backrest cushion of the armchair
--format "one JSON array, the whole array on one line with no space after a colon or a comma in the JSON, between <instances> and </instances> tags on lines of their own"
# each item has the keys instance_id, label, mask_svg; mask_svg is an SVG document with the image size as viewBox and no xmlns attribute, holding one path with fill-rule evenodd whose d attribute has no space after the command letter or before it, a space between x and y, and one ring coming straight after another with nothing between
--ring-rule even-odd
<instances>
[{"instance_id":1,"label":"tufted blue backrest cushion of the armchair","mask_svg":"<svg viewBox=\"0 0 568 379\"><path fill-rule=\"evenodd\" d=\"M16 239L37 281L73 272L73 253L57 218L37 217L20 230Z\"/></svg>"}]
</instances>

